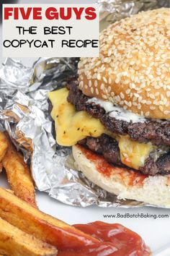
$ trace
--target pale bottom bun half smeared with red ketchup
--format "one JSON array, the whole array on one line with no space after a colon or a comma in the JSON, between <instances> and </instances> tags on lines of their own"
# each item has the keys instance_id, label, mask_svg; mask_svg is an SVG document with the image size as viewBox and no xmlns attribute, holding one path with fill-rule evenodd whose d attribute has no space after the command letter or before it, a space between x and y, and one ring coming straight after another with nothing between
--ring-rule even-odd
<instances>
[{"instance_id":1,"label":"pale bottom bun half smeared with red ketchup","mask_svg":"<svg viewBox=\"0 0 170 256\"><path fill-rule=\"evenodd\" d=\"M132 169L112 166L100 155L73 146L79 171L102 189L118 196L170 208L170 175L146 176Z\"/></svg>"}]
</instances>

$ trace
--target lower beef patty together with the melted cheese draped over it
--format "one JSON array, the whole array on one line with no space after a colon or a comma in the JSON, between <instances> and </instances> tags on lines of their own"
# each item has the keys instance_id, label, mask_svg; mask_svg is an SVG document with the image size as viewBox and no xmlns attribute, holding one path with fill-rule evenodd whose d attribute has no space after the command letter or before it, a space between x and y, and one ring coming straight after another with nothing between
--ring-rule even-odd
<instances>
[{"instance_id":1,"label":"lower beef patty together with the melted cheese draped over it","mask_svg":"<svg viewBox=\"0 0 170 256\"><path fill-rule=\"evenodd\" d=\"M125 142L127 142L127 144ZM84 145L86 148L89 148L94 153L103 155L109 163L114 163L118 166L132 166L132 163L130 161L130 152L131 155L137 154L136 158L132 158L134 166L137 166L137 164L139 164L140 161L145 161L145 159L138 157L139 151L138 148L136 147L138 147L139 144L134 143L133 148L133 144L130 145L129 143L131 144L134 142L130 140L126 141L125 138L122 137L122 140L120 140L119 143L117 142L117 140L115 140L112 137L109 137L108 135L101 135L100 137L97 138L86 137L86 139L79 141L80 145ZM145 152L148 155L149 152L147 150L149 150L149 148L144 148L145 144L141 145L143 145L143 155ZM167 151L168 153L166 153ZM167 149L167 147L152 148L152 151L148 155L148 158L146 158L145 163L142 164L143 166L140 166L138 169L143 174L169 174L170 151Z\"/></svg>"}]
</instances>

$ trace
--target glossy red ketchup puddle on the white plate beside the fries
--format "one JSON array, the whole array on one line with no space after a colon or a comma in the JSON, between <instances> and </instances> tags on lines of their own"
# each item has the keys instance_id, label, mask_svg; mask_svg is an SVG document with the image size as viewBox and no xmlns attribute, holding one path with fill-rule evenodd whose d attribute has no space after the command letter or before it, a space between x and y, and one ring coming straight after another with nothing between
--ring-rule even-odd
<instances>
[{"instance_id":1,"label":"glossy red ketchup puddle on the white plate beside the fries","mask_svg":"<svg viewBox=\"0 0 170 256\"><path fill-rule=\"evenodd\" d=\"M96 221L88 224L74 225L76 229L90 234L98 243L86 245L81 249L61 251L58 256L148 256L151 251L143 239L120 224Z\"/></svg>"}]
</instances>

